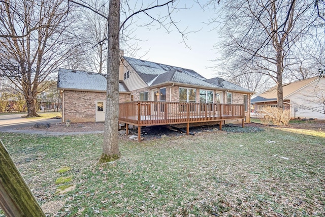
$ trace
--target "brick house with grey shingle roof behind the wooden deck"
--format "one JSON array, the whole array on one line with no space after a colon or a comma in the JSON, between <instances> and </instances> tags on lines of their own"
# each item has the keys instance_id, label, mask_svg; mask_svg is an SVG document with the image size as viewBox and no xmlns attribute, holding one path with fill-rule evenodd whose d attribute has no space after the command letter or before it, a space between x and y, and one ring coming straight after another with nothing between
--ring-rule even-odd
<instances>
[{"instance_id":1,"label":"brick house with grey shingle roof behind the wooden deck","mask_svg":"<svg viewBox=\"0 0 325 217\"><path fill-rule=\"evenodd\" d=\"M121 56L119 80L120 103L244 104L244 119L250 121L252 91L221 78L206 79L193 70ZM63 122L67 119L73 122L105 120L105 74L60 69L57 88L61 90Z\"/></svg>"}]
</instances>

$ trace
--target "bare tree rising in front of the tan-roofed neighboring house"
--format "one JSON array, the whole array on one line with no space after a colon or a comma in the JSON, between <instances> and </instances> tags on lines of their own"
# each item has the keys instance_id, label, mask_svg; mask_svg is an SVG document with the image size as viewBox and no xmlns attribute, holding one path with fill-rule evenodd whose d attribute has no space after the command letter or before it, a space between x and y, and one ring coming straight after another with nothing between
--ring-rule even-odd
<instances>
[{"instance_id":1,"label":"bare tree rising in front of the tan-roofed neighboring house","mask_svg":"<svg viewBox=\"0 0 325 217\"><path fill-rule=\"evenodd\" d=\"M259 73L273 79L279 108L283 108L282 80L289 78L289 69L299 63L295 57L301 53L301 43L312 41L317 33L319 23L314 3L314 0L226 1L218 17L222 22L212 20L219 24L221 42L217 48L228 72L234 78Z\"/></svg>"}]
</instances>

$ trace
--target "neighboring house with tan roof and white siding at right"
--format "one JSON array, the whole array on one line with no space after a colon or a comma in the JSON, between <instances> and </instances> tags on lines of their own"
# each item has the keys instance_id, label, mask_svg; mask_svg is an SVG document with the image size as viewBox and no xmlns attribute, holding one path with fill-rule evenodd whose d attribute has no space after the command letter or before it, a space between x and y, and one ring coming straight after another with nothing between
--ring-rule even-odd
<instances>
[{"instance_id":1,"label":"neighboring house with tan roof and white siding at right","mask_svg":"<svg viewBox=\"0 0 325 217\"><path fill-rule=\"evenodd\" d=\"M254 111L265 106L277 106L277 88L272 87L251 100ZM325 78L313 77L283 84L284 109L291 111L291 118L325 119Z\"/></svg>"}]
</instances>

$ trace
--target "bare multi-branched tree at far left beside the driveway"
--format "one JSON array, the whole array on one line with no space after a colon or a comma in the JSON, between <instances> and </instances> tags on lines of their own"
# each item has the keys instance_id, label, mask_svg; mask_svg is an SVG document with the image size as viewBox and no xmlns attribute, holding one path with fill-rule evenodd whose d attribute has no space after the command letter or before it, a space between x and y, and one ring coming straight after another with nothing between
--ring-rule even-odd
<instances>
[{"instance_id":1,"label":"bare multi-branched tree at far left beside the driveway","mask_svg":"<svg viewBox=\"0 0 325 217\"><path fill-rule=\"evenodd\" d=\"M64 0L0 2L0 72L23 93L27 117L39 116L39 84L55 79L51 75L69 56L70 9Z\"/></svg>"}]
</instances>

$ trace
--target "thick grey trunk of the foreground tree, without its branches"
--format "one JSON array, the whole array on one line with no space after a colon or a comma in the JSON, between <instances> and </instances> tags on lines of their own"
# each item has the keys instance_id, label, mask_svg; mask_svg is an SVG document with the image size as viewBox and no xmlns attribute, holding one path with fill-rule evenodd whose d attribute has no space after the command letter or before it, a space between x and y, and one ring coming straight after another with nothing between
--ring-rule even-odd
<instances>
[{"instance_id":1,"label":"thick grey trunk of the foreground tree, without its branches","mask_svg":"<svg viewBox=\"0 0 325 217\"><path fill-rule=\"evenodd\" d=\"M119 103L119 25L120 1L110 0L108 15L108 63L104 144L100 162L119 158L118 103Z\"/></svg>"}]
</instances>

